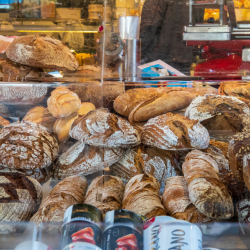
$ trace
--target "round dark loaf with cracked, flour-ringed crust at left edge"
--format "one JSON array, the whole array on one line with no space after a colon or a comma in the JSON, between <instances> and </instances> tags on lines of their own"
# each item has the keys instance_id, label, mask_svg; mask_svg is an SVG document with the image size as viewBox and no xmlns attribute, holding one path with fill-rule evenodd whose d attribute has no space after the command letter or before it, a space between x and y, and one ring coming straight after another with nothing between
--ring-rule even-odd
<instances>
[{"instance_id":1,"label":"round dark loaf with cracked, flour-ringed crust at left edge","mask_svg":"<svg viewBox=\"0 0 250 250\"><path fill-rule=\"evenodd\" d=\"M28 171L31 177L44 182L49 178L44 176L46 169L57 157L58 150L55 136L45 127L15 122L3 127L0 133L0 168Z\"/></svg>"}]
</instances>

